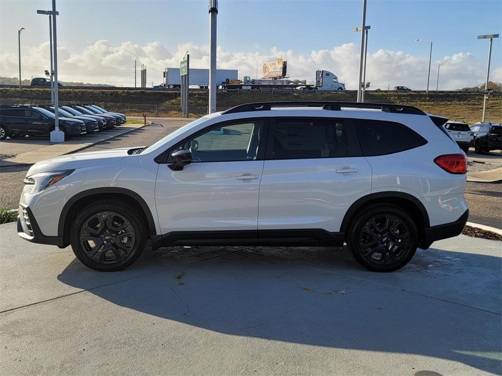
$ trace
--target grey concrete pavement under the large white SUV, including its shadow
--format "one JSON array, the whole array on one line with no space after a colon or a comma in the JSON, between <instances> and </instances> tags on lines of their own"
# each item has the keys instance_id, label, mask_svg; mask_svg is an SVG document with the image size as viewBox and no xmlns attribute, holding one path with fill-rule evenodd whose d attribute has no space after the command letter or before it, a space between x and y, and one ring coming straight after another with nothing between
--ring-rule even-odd
<instances>
[{"instance_id":1,"label":"grey concrete pavement under the large white SUV, including its shadow","mask_svg":"<svg viewBox=\"0 0 502 376\"><path fill-rule=\"evenodd\" d=\"M395 273L341 248L166 248L98 273L0 226L2 374L498 374L500 242ZM420 373L418 373L420 374Z\"/></svg>"}]
</instances>

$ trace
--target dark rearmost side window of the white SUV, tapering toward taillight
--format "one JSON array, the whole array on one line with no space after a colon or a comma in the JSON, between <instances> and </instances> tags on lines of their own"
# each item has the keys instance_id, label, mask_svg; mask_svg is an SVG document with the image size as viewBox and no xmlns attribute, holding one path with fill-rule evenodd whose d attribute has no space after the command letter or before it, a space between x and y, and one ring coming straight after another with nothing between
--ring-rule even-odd
<instances>
[{"instance_id":1,"label":"dark rearmost side window of the white SUV, tapering toward taillight","mask_svg":"<svg viewBox=\"0 0 502 376\"><path fill-rule=\"evenodd\" d=\"M427 141L406 125L382 120L354 120L362 154L393 154L425 145Z\"/></svg>"}]
</instances>

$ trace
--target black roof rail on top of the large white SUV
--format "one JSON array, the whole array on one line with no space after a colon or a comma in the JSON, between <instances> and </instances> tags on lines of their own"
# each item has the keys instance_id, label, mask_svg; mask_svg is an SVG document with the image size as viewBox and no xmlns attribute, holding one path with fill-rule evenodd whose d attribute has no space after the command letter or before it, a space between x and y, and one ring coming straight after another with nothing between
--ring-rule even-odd
<instances>
[{"instance_id":1,"label":"black roof rail on top of the large white SUV","mask_svg":"<svg viewBox=\"0 0 502 376\"><path fill-rule=\"evenodd\" d=\"M345 108L370 108L384 112L425 115L425 112L413 106L392 103L360 103L360 102L329 102L329 101L281 101L281 102L256 102L245 103L229 108L222 114L233 114L248 111L268 111L272 107L322 107L324 110L340 111Z\"/></svg>"}]
</instances>

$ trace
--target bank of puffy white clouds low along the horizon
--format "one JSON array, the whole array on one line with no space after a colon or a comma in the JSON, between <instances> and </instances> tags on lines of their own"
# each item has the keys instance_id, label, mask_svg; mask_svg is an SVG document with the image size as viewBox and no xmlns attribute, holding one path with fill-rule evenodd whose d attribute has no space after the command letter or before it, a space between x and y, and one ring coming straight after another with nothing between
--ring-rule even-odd
<instances>
[{"instance_id":1,"label":"bank of puffy white clouds low along the horizon","mask_svg":"<svg viewBox=\"0 0 502 376\"><path fill-rule=\"evenodd\" d=\"M82 81L84 83L109 83L114 85L134 85L134 61L138 64L138 83L140 67L145 64L148 82L162 82L162 72L166 67L179 67L179 61L186 51L190 51L190 64L193 68L208 68L209 46L196 46L192 43L178 45L177 51L169 51L162 43L152 42L145 46L132 42L123 42L113 46L106 40L100 40L87 46L79 53L69 53L58 47L59 80ZM49 68L49 44L25 50L22 57L23 78L40 76ZM264 62L283 57L288 61L288 73L291 78L313 81L317 69L326 69L335 73L347 88L354 89L359 68L359 47L353 43L333 47L330 50L312 51L309 55L297 55L293 50L279 51L272 48L269 54L257 52L227 51L223 47L217 50L217 65L222 69L237 69L239 77L256 76ZM459 52L453 56L433 61L431 66L430 88L435 89L438 64L451 59L441 67L440 89L458 89L480 84L485 79L485 58L477 59L468 52ZM424 89L427 84L428 58L414 56L403 51L378 50L368 54L366 81L372 87L409 86ZM17 54L0 54L0 75L17 76ZM502 67L494 66L490 75L492 81L502 81Z\"/></svg>"}]
</instances>

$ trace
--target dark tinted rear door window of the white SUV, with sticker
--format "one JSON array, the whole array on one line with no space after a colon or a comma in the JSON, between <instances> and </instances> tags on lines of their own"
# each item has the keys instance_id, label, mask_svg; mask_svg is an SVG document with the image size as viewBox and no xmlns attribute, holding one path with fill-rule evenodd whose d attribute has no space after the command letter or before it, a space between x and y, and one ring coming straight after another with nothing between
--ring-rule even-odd
<instances>
[{"instance_id":1,"label":"dark tinted rear door window of the white SUV, with sticker","mask_svg":"<svg viewBox=\"0 0 502 376\"><path fill-rule=\"evenodd\" d=\"M272 125L268 159L334 158L347 156L343 120L277 119Z\"/></svg>"}]
</instances>

